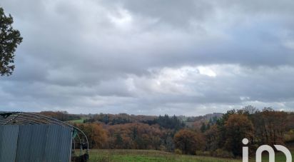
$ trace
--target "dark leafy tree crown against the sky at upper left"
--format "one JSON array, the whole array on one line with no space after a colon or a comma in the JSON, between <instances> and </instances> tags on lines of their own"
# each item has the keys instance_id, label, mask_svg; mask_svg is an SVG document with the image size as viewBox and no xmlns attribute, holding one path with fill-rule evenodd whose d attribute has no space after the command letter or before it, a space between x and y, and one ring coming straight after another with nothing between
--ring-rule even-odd
<instances>
[{"instance_id":1,"label":"dark leafy tree crown against the sky at upper left","mask_svg":"<svg viewBox=\"0 0 294 162\"><path fill-rule=\"evenodd\" d=\"M14 71L14 52L16 47L21 44L22 38L18 30L11 24L14 20L12 16L6 16L0 7L0 74L10 76Z\"/></svg>"}]
</instances>

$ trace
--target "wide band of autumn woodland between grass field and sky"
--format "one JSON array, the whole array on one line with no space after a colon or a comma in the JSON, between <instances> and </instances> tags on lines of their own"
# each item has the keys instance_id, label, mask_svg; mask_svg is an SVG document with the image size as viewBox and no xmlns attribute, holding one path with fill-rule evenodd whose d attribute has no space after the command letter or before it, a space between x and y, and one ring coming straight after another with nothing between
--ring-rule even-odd
<instances>
[{"instance_id":1,"label":"wide band of autumn woodland between grass field and sky","mask_svg":"<svg viewBox=\"0 0 294 162\"><path fill-rule=\"evenodd\" d=\"M83 118L85 115L83 115ZM89 114L73 123L88 136L90 148L155 149L174 153L234 158L242 156L243 138L250 153L258 146L294 141L294 113L246 106L203 121L196 117Z\"/></svg>"}]
</instances>

